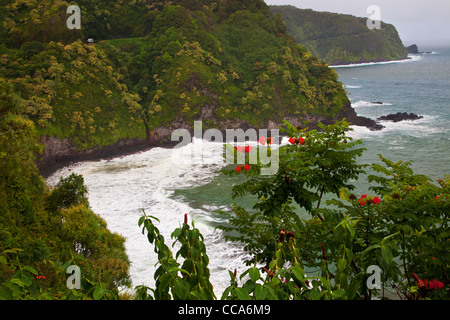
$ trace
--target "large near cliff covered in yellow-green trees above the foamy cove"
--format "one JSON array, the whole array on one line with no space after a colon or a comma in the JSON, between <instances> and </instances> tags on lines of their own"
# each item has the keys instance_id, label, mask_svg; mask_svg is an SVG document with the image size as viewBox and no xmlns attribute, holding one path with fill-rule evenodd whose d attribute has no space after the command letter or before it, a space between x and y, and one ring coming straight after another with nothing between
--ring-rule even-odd
<instances>
[{"instance_id":1,"label":"large near cliff covered in yellow-green trees above the foamy cove","mask_svg":"<svg viewBox=\"0 0 450 320\"><path fill-rule=\"evenodd\" d=\"M337 73L297 45L264 1L140 1L133 10L124 1L107 16L80 1L85 27L70 36L23 19L33 10L48 12L43 25L64 16L45 3L4 5L0 47L2 77L19 101L13 112L34 123L45 147L42 172L168 143L196 120L245 130L347 114L376 127L354 114ZM133 38L116 39L123 30ZM88 34L94 45L84 43Z\"/></svg>"}]
</instances>

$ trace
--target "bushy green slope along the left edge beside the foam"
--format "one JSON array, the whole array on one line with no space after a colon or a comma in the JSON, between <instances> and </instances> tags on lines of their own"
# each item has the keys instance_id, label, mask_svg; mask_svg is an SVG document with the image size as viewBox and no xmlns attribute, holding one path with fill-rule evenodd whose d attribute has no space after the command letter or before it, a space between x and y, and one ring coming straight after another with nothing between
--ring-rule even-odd
<instances>
[{"instance_id":1,"label":"bushy green slope along the left edge beside the foam","mask_svg":"<svg viewBox=\"0 0 450 320\"><path fill-rule=\"evenodd\" d=\"M38 132L18 112L26 101L4 79L0 87L0 299L79 297L66 287L71 264L83 271L85 297L100 281L104 290L129 284L125 239L89 209L82 177L45 184Z\"/></svg>"}]
</instances>

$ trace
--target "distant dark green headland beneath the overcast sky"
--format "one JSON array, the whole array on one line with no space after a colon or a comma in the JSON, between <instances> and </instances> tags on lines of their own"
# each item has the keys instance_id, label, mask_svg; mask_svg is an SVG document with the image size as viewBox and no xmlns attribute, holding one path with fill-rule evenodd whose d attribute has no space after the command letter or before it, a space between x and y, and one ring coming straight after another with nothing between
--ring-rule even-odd
<instances>
[{"instance_id":1,"label":"distant dark green headland beneath the overcast sky","mask_svg":"<svg viewBox=\"0 0 450 320\"><path fill-rule=\"evenodd\" d=\"M367 18L316 12L293 6L271 6L280 13L288 32L297 43L307 47L330 65L404 59L407 51L393 25L367 28Z\"/></svg>"}]
</instances>

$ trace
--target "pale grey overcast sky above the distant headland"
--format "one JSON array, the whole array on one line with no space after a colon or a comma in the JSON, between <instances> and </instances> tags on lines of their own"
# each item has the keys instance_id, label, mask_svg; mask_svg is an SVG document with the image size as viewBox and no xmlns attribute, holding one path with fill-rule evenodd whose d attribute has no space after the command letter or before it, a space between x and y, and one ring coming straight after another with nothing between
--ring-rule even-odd
<instances>
[{"instance_id":1,"label":"pale grey overcast sky above the distant headland","mask_svg":"<svg viewBox=\"0 0 450 320\"><path fill-rule=\"evenodd\" d=\"M265 0L268 5L290 4L302 9L369 17L367 8L377 5L381 20L393 24L405 46L419 50L450 46L449 0Z\"/></svg>"}]
</instances>

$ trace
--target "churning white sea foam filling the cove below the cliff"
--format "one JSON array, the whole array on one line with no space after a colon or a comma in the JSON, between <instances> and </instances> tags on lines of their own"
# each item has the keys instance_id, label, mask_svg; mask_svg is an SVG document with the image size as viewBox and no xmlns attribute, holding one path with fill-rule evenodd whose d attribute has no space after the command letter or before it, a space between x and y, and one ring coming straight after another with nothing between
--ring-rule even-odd
<instances>
[{"instance_id":1,"label":"churning white sea foam filling the cove below the cliff","mask_svg":"<svg viewBox=\"0 0 450 320\"><path fill-rule=\"evenodd\" d=\"M202 163L195 161L195 153L190 152L198 150L199 146L202 147ZM173 152L179 152L179 157L174 157ZM157 263L153 247L137 225L142 209L160 220L157 227L169 245L172 243L171 232L183 223L184 214L189 213L189 221L194 220L205 237L211 282L220 298L229 285L227 270L237 268L243 272L246 269L242 246L225 242L220 231L202 223L202 219L208 216L206 211L216 208L193 209L179 199L171 198L171 195L175 189L210 182L224 165L222 152L220 143L194 140L176 151L154 148L112 160L82 162L59 170L49 177L48 183L54 185L60 177L71 172L83 175L93 211L105 219L111 231L126 238L133 286L145 284L154 287L153 274Z\"/></svg>"}]
</instances>

